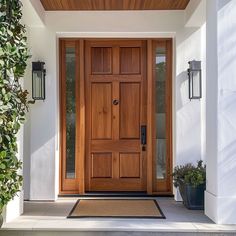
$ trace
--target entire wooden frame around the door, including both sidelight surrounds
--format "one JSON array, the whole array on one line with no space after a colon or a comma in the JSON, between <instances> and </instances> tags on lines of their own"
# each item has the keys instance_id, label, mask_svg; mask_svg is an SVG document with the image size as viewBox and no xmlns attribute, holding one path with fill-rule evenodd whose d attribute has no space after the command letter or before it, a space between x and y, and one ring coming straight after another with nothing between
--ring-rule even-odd
<instances>
[{"instance_id":1,"label":"entire wooden frame around the door, including both sidelight surrounds","mask_svg":"<svg viewBox=\"0 0 236 236\"><path fill-rule=\"evenodd\" d=\"M172 171L173 168L173 144L172 144L172 71L173 71L173 40L172 38L60 38L59 39L59 99L60 99L60 147L59 147L59 194L85 194L85 41L86 40L145 40L147 42L147 194L151 195L173 195L173 184L172 177L169 175L169 190L157 192L155 191L156 181L153 178L154 173L154 156L155 156L155 144L154 144L154 105L155 105L155 93L154 93L154 68L153 68L153 55L154 45L158 41L168 42L168 89L169 89L169 101L168 101L168 112L169 112L169 130L167 136L169 137L169 154L168 154L168 168ZM65 46L68 43L74 42L76 48L76 151L75 151L75 166L76 166L76 178L67 181L65 178ZM73 190L70 189L73 187Z\"/></svg>"}]
</instances>

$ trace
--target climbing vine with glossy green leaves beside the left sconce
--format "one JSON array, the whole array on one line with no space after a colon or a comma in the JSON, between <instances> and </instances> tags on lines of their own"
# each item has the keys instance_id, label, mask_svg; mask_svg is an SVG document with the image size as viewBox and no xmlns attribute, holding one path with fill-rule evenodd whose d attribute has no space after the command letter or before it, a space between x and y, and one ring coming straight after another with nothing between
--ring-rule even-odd
<instances>
[{"instance_id":1,"label":"climbing vine with glossy green leaves beside the left sconce","mask_svg":"<svg viewBox=\"0 0 236 236\"><path fill-rule=\"evenodd\" d=\"M0 0L0 212L22 186L16 135L28 111L20 80L30 56L21 18L20 0Z\"/></svg>"}]
</instances>

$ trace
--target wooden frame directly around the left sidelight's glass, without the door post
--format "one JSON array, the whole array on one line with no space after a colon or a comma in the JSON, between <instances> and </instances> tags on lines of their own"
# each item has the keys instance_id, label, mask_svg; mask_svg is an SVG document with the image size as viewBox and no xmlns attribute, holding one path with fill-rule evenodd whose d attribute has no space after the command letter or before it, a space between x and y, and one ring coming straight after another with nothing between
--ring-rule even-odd
<instances>
[{"instance_id":1,"label":"wooden frame directly around the left sidelight's glass, without the door post","mask_svg":"<svg viewBox=\"0 0 236 236\"><path fill-rule=\"evenodd\" d=\"M79 193L79 146L78 130L80 129L80 44L78 40L60 40L60 192ZM75 143L75 178L66 177L66 48L75 49L75 94L76 94L76 143ZM82 150L81 150L82 151Z\"/></svg>"}]
</instances>

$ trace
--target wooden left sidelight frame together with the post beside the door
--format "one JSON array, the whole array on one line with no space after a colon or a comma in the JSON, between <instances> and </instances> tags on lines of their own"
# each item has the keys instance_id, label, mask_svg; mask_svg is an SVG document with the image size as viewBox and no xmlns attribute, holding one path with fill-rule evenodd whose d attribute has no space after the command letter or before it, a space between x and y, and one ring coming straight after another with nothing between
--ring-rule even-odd
<instances>
[{"instance_id":1,"label":"wooden left sidelight frame together with the post beside the door","mask_svg":"<svg viewBox=\"0 0 236 236\"><path fill-rule=\"evenodd\" d=\"M75 101L76 101L76 130L75 130L75 178L66 178L66 80L65 80L65 48L75 48ZM59 193L84 193L84 69L83 69L83 40L59 39L59 96L60 96L60 163L59 163Z\"/></svg>"}]
</instances>

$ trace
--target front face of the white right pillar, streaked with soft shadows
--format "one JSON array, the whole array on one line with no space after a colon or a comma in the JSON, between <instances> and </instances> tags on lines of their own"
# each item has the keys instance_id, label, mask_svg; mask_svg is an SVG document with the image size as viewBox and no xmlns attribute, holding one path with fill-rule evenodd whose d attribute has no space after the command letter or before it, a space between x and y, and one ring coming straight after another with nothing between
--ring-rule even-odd
<instances>
[{"instance_id":1,"label":"front face of the white right pillar, streaked with soft shadows","mask_svg":"<svg viewBox=\"0 0 236 236\"><path fill-rule=\"evenodd\" d=\"M221 201L219 204L219 212L225 213L220 220L235 223L236 207L233 196L236 195L236 3L235 0L219 2L217 185L219 196L228 197L227 201Z\"/></svg>"}]
</instances>

